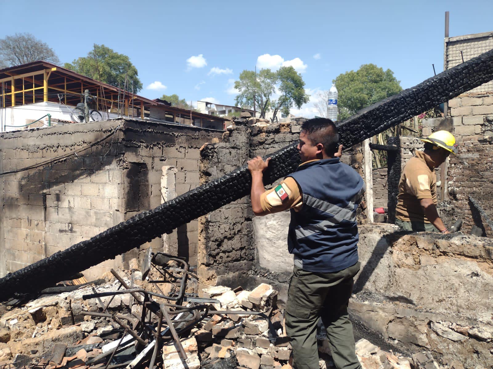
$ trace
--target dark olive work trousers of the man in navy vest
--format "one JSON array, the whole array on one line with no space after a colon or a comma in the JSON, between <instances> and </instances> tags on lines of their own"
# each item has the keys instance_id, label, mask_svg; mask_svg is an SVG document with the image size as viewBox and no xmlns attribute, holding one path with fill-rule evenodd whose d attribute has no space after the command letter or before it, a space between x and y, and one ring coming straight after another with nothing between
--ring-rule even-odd
<instances>
[{"instance_id":1,"label":"dark olive work trousers of the man in navy vest","mask_svg":"<svg viewBox=\"0 0 493 369\"><path fill-rule=\"evenodd\" d=\"M334 273L294 267L285 309L287 336L293 346L294 369L318 369L317 322L327 329L332 359L338 369L360 369L355 354L348 302L360 263Z\"/></svg>"}]
</instances>

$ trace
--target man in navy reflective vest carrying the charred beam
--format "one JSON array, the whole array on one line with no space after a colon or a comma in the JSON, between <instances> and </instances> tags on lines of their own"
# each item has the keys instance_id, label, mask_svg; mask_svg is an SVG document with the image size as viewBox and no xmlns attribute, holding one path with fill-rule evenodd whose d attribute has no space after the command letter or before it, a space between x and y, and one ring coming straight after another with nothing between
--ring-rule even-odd
<instances>
[{"instance_id":1,"label":"man in navy reflective vest carrying the charred beam","mask_svg":"<svg viewBox=\"0 0 493 369\"><path fill-rule=\"evenodd\" d=\"M337 128L329 119L303 123L298 144L302 164L268 191L263 171L269 159L257 156L248 161L253 213L291 211L288 250L294 255L294 267L285 326L295 369L318 369L319 318L327 329L336 367L361 368L348 302L359 271L356 209L364 184L354 169L339 161L342 146L338 142Z\"/></svg>"}]
</instances>

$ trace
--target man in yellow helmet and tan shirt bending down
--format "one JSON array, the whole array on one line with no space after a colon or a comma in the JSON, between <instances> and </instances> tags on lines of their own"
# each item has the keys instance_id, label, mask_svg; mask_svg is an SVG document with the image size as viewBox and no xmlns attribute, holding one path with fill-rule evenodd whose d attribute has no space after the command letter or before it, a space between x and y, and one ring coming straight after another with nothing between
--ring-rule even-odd
<instances>
[{"instance_id":1,"label":"man in yellow helmet and tan shirt bending down","mask_svg":"<svg viewBox=\"0 0 493 369\"><path fill-rule=\"evenodd\" d=\"M450 153L457 154L455 137L437 131L422 138L424 150L416 151L404 166L399 180L395 224L405 231L449 233L436 209L436 175L434 168L445 162Z\"/></svg>"}]
</instances>

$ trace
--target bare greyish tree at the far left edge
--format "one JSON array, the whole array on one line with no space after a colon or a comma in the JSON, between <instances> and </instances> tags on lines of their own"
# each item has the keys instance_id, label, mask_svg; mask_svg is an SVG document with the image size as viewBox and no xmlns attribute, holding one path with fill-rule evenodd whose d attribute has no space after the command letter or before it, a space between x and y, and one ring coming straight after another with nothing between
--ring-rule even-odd
<instances>
[{"instance_id":1,"label":"bare greyish tree at the far left edge","mask_svg":"<svg viewBox=\"0 0 493 369\"><path fill-rule=\"evenodd\" d=\"M54 64L60 62L53 49L31 33L16 33L0 39L0 68L38 60Z\"/></svg>"}]
</instances>

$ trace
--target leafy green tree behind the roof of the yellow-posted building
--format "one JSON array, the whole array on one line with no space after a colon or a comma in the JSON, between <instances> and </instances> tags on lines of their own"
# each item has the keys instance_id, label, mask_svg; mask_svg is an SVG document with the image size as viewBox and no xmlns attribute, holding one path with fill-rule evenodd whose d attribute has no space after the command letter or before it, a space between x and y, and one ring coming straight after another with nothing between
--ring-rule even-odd
<instances>
[{"instance_id":1,"label":"leafy green tree behind the roof of the yellow-posted building","mask_svg":"<svg viewBox=\"0 0 493 369\"><path fill-rule=\"evenodd\" d=\"M101 82L115 87L120 85L121 88L127 76L129 90L132 89L132 82L134 82L134 92L142 89L137 68L130 62L130 58L105 45L94 45L94 49L87 54L87 57L65 63L64 67L98 81L101 78Z\"/></svg>"}]
</instances>

